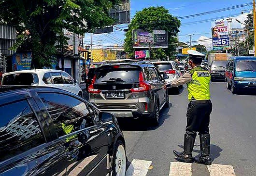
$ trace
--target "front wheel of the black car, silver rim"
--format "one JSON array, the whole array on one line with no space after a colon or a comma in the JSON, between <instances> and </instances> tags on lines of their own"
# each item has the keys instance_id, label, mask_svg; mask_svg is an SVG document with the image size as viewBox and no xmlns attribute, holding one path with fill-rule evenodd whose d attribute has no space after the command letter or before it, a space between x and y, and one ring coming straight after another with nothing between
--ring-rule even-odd
<instances>
[{"instance_id":1,"label":"front wheel of the black car, silver rim","mask_svg":"<svg viewBox=\"0 0 256 176\"><path fill-rule=\"evenodd\" d=\"M125 176L126 173L126 151L121 140L117 140L114 146L112 176Z\"/></svg>"}]
</instances>

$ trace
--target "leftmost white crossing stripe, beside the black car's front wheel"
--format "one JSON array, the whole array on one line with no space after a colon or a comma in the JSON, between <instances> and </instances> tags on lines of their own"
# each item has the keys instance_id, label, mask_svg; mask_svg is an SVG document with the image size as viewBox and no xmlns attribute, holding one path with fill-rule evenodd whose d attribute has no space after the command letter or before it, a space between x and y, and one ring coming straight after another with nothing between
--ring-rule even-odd
<instances>
[{"instance_id":1,"label":"leftmost white crossing stripe, beside the black car's front wheel","mask_svg":"<svg viewBox=\"0 0 256 176\"><path fill-rule=\"evenodd\" d=\"M126 176L146 176L152 161L132 160Z\"/></svg>"}]
</instances>

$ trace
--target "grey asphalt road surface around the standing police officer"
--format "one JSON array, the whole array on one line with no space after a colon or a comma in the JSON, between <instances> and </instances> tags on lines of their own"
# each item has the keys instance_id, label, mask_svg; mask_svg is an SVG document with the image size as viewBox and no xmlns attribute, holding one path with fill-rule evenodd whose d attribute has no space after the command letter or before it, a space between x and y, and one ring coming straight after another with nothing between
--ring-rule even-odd
<instances>
[{"instance_id":1,"label":"grey asphalt road surface around the standing police officer","mask_svg":"<svg viewBox=\"0 0 256 176\"><path fill-rule=\"evenodd\" d=\"M212 82L211 94L213 112L210 133L213 163L233 166L236 176L255 176L256 94L231 94L226 89L225 82ZM157 127L149 127L147 119L120 122L126 138L128 161L150 161L146 176L168 176L170 163L177 162L172 150L183 150L187 89L184 88L180 95L170 95L170 102L171 107L162 110L160 125ZM193 156L198 154L199 137L195 142ZM185 175L185 169L180 167L178 171L184 170ZM189 169L191 176L211 175L209 168L204 165L193 163ZM213 169L212 172L216 176L221 175L216 172L225 175L222 168L216 171Z\"/></svg>"}]
</instances>

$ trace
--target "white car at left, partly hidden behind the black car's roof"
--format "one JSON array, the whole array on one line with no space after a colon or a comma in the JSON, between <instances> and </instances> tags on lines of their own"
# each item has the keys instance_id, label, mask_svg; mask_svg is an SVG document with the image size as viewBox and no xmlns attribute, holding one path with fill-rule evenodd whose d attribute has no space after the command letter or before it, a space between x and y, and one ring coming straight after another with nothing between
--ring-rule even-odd
<instances>
[{"instance_id":1,"label":"white car at left, partly hidden behind the black car's roof","mask_svg":"<svg viewBox=\"0 0 256 176\"><path fill-rule=\"evenodd\" d=\"M80 97L83 91L71 75L61 70L22 70L3 74L1 85L45 86L60 88Z\"/></svg>"}]
</instances>

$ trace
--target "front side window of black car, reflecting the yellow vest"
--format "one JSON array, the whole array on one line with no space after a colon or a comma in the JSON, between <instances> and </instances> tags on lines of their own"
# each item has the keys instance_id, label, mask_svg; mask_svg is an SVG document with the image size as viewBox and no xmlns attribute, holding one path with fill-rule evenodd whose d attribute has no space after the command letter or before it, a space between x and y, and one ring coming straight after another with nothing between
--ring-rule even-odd
<instances>
[{"instance_id":1,"label":"front side window of black car, reflecting the yellow vest","mask_svg":"<svg viewBox=\"0 0 256 176\"><path fill-rule=\"evenodd\" d=\"M94 125L93 114L84 102L57 93L39 93L39 97L52 117L58 137Z\"/></svg>"}]
</instances>

